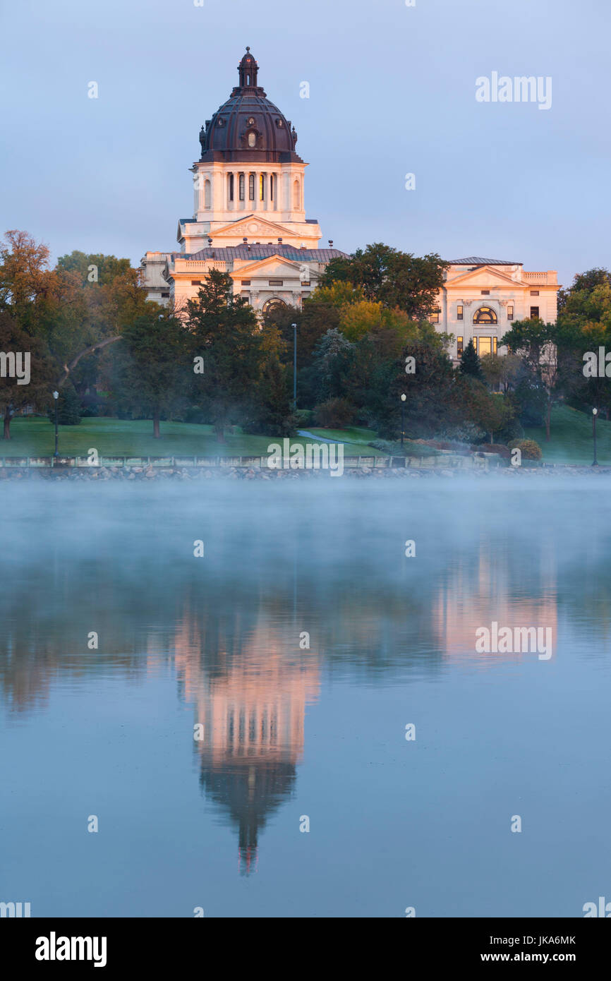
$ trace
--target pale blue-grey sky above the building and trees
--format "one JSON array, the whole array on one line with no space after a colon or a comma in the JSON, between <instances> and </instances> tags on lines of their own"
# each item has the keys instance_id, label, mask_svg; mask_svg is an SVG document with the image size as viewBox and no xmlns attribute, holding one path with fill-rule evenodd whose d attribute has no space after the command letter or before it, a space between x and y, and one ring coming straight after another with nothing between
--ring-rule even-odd
<instances>
[{"instance_id":1,"label":"pale blue-grey sky above the building and trees","mask_svg":"<svg viewBox=\"0 0 611 981\"><path fill-rule=\"evenodd\" d=\"M199 129L249 45L310 165L322 246L517 261L567 285L610 267L608 0L408 2L1 0L0 232L53 259L178 249ZM551 105L478 101L493 73L551 78Z\"/></svg>"}]
</instances>

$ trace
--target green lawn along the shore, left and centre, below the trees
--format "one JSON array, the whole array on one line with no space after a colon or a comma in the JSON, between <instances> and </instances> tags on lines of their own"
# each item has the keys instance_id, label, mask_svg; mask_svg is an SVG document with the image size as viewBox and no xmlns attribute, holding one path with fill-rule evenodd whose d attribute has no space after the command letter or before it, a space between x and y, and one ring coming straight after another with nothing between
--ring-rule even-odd
<instances>
[{"instance_id":1,"label":"green lawn along the shore, left and centre, below the trees","mask_svg":"<svg viewBox=\"0 0 611 981\"><path fill-rule=\"evenodd\" d=\"M354 439L369 430L315 430L327 439ZM384 456L380 450L365 446L365 437L345 442L346 456ZM60 426L59 451L63 456L86 456L90 448L100 456L267 456L276 437L246 436L236 428L219 443L212 426L197 423L162 422L161 439L153 438L153 424L148 420L82 419L78 426ZM312 439L291 438L291 443L305 445ZM0 440L0 456L51 456L55 451L55 428L41 418L18 417L11 423L11 439Z\"/></svg>"}]
</instances>

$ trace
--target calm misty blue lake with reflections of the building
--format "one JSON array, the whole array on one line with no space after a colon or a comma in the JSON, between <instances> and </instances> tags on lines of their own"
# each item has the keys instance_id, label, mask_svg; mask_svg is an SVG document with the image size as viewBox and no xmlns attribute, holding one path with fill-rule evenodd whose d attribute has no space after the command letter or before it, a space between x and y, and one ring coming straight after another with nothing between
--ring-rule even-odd
<instances>
[{"instance_id":1,"label":"calm misty blue lake with reflections of the building","mask_svg":"<svg viewBox=\"0 0 611 981\"><path fill-rule=\"evenodd\" d=\"M2 497L1 901L472 917L611 899L598 481ZM476 652L492 621L551 627L552 656Z\"/></svg>"}]
</instances>

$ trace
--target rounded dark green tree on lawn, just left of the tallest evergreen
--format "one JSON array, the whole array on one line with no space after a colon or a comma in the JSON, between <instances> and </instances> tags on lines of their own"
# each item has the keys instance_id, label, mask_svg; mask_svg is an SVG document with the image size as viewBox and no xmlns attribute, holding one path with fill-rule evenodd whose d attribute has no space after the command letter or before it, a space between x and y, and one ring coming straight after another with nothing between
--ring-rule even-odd
<instances>
[{"instance_id":1,"label":"rounded dark green tree on lawn, just left of the tallest evergreen","mask_svg":"<svg viewBox=\"0 0 611 981\"><path fill-rule=\"evenodd\" d=\"M144 314L123 328L115 353L119 403L152 418L160 439L161 416L184 402L193 372L182 323L172 313Z\"/></svg>"}]
</instances>

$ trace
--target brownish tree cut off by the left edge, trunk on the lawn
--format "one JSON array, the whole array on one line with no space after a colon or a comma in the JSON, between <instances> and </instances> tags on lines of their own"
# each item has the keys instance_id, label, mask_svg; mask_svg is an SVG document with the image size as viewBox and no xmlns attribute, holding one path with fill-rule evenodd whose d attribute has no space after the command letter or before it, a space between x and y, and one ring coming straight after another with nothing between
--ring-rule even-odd
<instances>
[{"instance_id":1,"label":"brownish tree cut off by the left edge, trunk on the lawn","mask_svg":"<svg viewBox=\"0 0 611 981\"><path fill-rule=\"evenodd\" d=\"M0 310L0 351L4 371L4 376L0 375L0 411L4 439L11 439L14 413L28 405L45 405L51 397L55 370L44 343L20 328L7 310Z\"/></svg>"}]
</instances>

